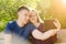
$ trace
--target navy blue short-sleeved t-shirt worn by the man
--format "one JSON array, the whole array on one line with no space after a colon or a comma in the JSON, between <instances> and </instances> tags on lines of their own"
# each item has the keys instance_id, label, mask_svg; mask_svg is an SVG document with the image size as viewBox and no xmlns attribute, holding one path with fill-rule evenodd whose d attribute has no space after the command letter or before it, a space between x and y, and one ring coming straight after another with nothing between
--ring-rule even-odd
<instances>
[{"instance_id":1,"label":"navy blue short-sleeved t-shirt worn by the man","mask_svg":"<svg viewBox=\"0 0 66 44\"><path fill-rule=\"evenodd\" d=\"M24 38L29 38L31 32L34 30L35 28L31 24L28 23L24 26L20 28L16 23L16 21L11 21L8 22L7 28L4 30L4 33L9 34L9 33L15 33L21 37Z\"/></svg>"}]
</instances>

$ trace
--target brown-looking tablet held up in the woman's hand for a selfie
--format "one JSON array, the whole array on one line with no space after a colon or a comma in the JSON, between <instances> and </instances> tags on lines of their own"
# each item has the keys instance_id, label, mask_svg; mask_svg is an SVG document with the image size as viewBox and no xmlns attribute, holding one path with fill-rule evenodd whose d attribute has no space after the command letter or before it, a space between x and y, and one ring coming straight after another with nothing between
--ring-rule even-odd
<instances>
[{"instance_id":1,"label":"brown-looking tablet held up in the woman's hand for a selfie","mask_svg":"<svg viewBox=\"0 0 66 44\"><path fill-rule=\"evenodd\" d=\"M54 25L55 20L44 20L44 29L45 30L54 30L56 26Z\"/></svg>"}]
</instances>

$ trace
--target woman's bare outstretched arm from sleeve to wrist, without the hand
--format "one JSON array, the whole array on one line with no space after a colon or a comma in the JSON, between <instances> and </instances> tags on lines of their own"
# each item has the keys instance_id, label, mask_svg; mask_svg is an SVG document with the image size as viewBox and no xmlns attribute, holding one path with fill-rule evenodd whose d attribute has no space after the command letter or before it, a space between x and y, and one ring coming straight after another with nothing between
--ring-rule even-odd
<instances>
[{"instance_id":1,"label":"woman's bare outstretched arm from sleeve to wrist, without the hand","mask_svg":"<svg viewBox=\"0 0 66 44\"><path fill-rule=\"evenodd\" d=\"M50 31L46 31L44 33L40 32L38 30L34 30L32 32L32 35L34 38L45 41L48 37L53 36L55 33L56 33L56 30L50 30Z\"/></svg>"}]
</instances>

